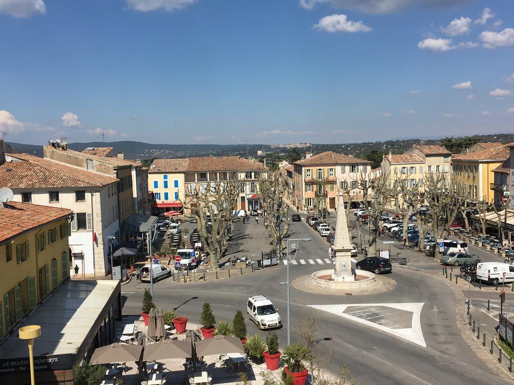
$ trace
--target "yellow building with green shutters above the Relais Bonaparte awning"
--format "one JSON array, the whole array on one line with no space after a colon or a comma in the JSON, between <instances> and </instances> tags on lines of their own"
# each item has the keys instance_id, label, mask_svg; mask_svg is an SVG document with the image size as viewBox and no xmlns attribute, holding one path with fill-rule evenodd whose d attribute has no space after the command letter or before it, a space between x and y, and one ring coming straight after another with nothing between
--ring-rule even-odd
<instances>
[{"instance_id":1,"label":"yellow building with green shutters above the Relais Bonaparte awning","mask_svg":"<svg viewBox=\"0 0 514 385\"><path fill-rule=\"evenodd\" d=\"M0 337L69 277L72 211L0 202Z\"/></svg>"}]
</instances>

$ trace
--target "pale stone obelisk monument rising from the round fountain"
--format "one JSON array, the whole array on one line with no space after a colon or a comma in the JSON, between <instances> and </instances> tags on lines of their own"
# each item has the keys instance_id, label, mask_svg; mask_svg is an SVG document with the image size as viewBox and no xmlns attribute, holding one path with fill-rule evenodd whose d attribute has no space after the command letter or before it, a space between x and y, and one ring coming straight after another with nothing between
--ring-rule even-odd
<instances>
[{"instance_id":1,"label":"pale stone obelisk monument rising from the round fountain","mask_svg":"<svg viewBox=\"0 0 514 385\"><path fill-rule=\"evenodd\" d=\"M352 274L352 242L350 241L350 233L348 233L342 192L339 192L336 235L332 250L336 258L336 268L333 273L334 281L354 281Z\"/></svg>"}]
</instances>

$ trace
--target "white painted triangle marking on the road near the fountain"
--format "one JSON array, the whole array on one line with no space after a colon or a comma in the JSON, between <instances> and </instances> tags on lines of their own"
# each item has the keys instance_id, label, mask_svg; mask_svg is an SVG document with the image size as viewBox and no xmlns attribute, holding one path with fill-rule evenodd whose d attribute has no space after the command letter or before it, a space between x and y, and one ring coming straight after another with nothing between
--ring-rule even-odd
<instances>
[{"instance_id":1,"label":"white painted triangle marking on the road near the fountain","mask_svg":"<svg viewBox=\"0 0 514 385\"><path fill-rule=\"evenodd\" d=\"M332 313L337 316L349 319L354 322L358 322L371 328L379 329L383 332L392 334L396 337L408 340L410 342L414 342L417 345L420 345L424 348L427 347L425 343L425 338L423 337L423 331L421 331L421 309L423 308L423 302L413 302L413 303L351 303L351 304L338 304L338 305L308 305L309 307L313 307L314 309L322 310L327 313ZM352 308L357 309L357 311L352 312ZM380 309L389 309L389 311L400 311L402 314L412 313L412 319L408 319L407 316L403 316L404 320L410 321L410 328L394 328L388 327L380 324L379 322L383 322L382 319L386 318L390 315L390 312L384 312L383 317L380 315ZM345 313L348 311L347 313ZM357 315L352 315L349 313L355 313ZM378 316L377 316L378 314ZM369 319L373 319L373 321L366 320L366 315L370 315ZM395 317L391 317L390 322L393 321ZM393 325L394 326L394 325Z\"/></svg>"}]
</instances>

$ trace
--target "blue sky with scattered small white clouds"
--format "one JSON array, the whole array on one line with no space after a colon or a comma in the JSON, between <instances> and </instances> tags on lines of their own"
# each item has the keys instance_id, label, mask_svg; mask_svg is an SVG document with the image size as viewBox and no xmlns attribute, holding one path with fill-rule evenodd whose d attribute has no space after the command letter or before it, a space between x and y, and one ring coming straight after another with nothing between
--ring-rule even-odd
<instances>
[{"instance_id":1,"label":"blue sky with scattered small white clouds","mask_svg":"<svg viewBox=\"0 0 514 385\"><path fill-rule=\"evenodd\" d=\"M507 1L0 0L0 35L13 142L514 132Z\"/></svg>"}]
</instances>

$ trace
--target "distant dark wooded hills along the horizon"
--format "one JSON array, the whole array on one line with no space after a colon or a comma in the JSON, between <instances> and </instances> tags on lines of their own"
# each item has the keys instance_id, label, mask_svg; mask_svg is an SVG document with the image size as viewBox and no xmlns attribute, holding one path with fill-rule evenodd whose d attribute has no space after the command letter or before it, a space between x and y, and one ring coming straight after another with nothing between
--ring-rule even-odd
<instances>
[{"instance_id":1,"label":"distant dark wooded hills along the horizon","mask_svg":"<svg viewBox=\"0 0 514 385\"><path fill-rule=\"evenodd\" d=\"M514 133L499 133L479 135L480 142L514 142ZM363 158L366 154L375 150L378 153L389 152L402 153L415 143L419 143L419 139L402 139L390 140L385 142L364 142L364 143L341 143L341 144L312 144L310 147L300 148L303 154L306 151L319 153L323 151L334 151L344 153L359 158ZM426 139L426 144L439 144L442 139ZM36 146L21 143L9 143L21 152L27 152L36 156L43 156L43 146ZM127 159L150 159L150 158L187 158L187 157L205 157L205 156L249 156L255 157L257 150L266 150L266 152L285 153L289 149L286 147L270 148L263 144L151 144L144 142L88 142L88 143L68 143L68 148L72 150L82 151L86 147L113 147L113 154L124 152ZM381 157L381 156L380 156Z\"/></svg>"}]
</instances>

